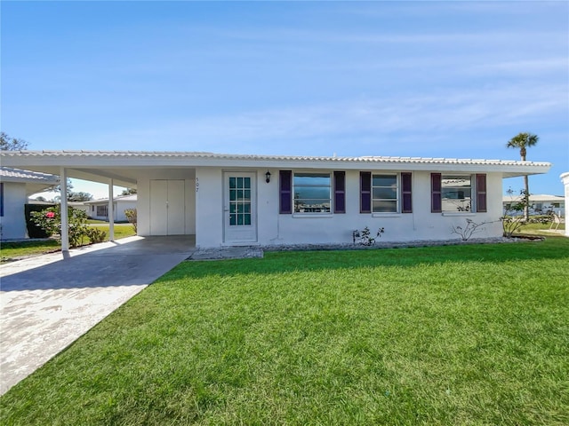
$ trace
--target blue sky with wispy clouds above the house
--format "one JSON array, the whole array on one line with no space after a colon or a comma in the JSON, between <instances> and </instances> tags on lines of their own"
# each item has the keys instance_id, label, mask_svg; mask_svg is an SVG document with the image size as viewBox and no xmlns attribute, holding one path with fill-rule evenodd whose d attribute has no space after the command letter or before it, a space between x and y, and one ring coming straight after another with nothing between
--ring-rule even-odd
<instances>
[{"instance_id":1,"label":"blue sky with wispy clouds above the house","mask_svg":"<svg viewBox=\"0 0 569 426\"><path fill-rule=\"evenodd\" d=\"M2 130L29 149L519 159L529 131L554 163L531 192L563 193L565 1L0 7Z\"/></svg>"}]
</instances>

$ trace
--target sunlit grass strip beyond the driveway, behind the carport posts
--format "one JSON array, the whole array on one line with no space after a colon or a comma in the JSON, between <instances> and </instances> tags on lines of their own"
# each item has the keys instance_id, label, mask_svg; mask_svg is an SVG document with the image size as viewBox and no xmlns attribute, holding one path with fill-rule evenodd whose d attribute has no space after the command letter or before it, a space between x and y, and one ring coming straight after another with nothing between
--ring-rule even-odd
<instances>
[{"instance_id":1,"label":"sunlit grass strip beyond the driveway, behind the carport posts","mask_svg":"<svg viewBox=\"0 0 569 426\"><path fill-rule=\"evenodd\" d=\"M97 225L96 228L107 233L105 241L108 241L108 224ZM132 229L132 225L115 224L115 240L132 235L136 235ZM84 243L90 244L91 241L85 239ZM60 249L61 244L59 240L3 242L0 246L0 261L9 262L20 257L44 255Z\"/></svg>"}]
</instances>

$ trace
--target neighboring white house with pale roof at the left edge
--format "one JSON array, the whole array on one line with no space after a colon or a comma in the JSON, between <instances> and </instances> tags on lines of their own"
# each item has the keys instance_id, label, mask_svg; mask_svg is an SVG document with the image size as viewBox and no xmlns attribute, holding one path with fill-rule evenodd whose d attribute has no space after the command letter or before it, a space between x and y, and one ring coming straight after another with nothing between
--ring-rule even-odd
<instances>
[{"instance_id":1,"label":"neighboring white house with pale roof at the left edge","mask_svg":"<svg viewBox=\"0 0 569 426\"><path fill-rule=\"evenodd\" d=\"M0 168L0 238L28 238L24 206L28 196L59 185L60 177L37 171Z\"/></svg>"}]
</instances>

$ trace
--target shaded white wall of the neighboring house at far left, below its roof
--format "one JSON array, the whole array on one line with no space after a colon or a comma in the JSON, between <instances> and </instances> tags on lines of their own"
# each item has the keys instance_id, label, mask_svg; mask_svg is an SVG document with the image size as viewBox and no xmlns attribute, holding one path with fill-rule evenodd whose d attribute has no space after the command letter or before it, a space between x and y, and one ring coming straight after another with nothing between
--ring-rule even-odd
<instances>
[{"instance_id":1,"label":"shaded white wall of the neighboring house at far left, below its roof","mask_svg":"<svg viewBox=\"0 0 569 426\"><path fill-rule=\"evenodd\" d=\"M24 211L27 202L26 184L4 182L4 216L0 217L2 240L28 238Z\"/></svg>"}]
</instances>

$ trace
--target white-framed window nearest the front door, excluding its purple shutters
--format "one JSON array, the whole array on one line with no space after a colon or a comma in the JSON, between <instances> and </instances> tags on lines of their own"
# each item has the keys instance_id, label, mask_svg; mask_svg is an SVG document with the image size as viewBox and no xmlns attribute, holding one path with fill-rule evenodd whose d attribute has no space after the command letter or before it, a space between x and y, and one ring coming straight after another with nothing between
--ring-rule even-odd
<instances>
[{"instance_id":1,"label":"white-framed window nearest the front door, excluding its purple shutters","mask_svg":"<svg viewBox=\"0 0 569 426\"><path fill-rule=\"evenodd\" d=\"M293 176L294 213L331 213L330 173L298 172Z\"/></svg>"}]
</instances>

